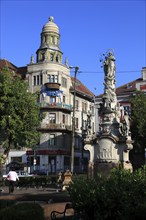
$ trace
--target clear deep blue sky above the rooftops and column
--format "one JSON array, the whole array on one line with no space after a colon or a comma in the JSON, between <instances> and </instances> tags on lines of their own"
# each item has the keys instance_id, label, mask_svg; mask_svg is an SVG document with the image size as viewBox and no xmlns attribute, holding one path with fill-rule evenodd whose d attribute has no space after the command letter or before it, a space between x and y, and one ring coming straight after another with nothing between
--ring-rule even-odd
<instances>
[{"instance_id":1,"label":"clear deep blue sky above the rooftops and column","mask_svg":"<svg viewBox=\"0 0 146 220\"><path fill-rule=\"evenodd\" d=\"M40 47L50 16L60 31L63 63L95 95L104 91L101 58L116 58L116 87L141 77L146 67L146 0L0 0L0 58L26 66ZM74 72L71 72L74 76Z\"/></svg>"}]
</instances>

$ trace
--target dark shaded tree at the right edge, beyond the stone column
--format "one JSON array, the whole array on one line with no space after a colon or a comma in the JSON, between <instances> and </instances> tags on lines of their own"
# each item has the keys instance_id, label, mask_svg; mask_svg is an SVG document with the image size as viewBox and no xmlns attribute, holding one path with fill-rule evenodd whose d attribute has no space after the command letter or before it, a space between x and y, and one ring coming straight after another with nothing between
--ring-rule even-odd
<instances>
[{"instance_id":1,"label":"dark shaded tree at the right edge, beyond the stone column","mask_svg":"<svg viewBox=\"0 0 146 220\"><path fill-rule=\"evenodd\" d=\"M140 155L140 165L143 165L146 148L146 95L141 91L137 91L131 99L131 121L131 133L134 140L131 154Z\"/></svg>"}]
</instances>

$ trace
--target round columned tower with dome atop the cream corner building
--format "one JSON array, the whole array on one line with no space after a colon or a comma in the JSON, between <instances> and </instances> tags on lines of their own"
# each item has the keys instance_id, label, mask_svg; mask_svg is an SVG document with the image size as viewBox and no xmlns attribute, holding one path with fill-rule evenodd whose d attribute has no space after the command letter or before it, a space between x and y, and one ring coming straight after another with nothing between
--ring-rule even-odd
<instances>
[{"instance_id":1,"label":"round columned tower with dome atop the cream corner building","mask_svg":"<svg viewBox=\"0 0 146 220\"><path fill-rule=\"evenodd\" d=\"M41 33L41 45L37 50L37 63L53 62L62 63L62 52L60 51L59 28L54 23L54 18L49 17L49 21L43 26Z\"/></svg>"}]
</instances>

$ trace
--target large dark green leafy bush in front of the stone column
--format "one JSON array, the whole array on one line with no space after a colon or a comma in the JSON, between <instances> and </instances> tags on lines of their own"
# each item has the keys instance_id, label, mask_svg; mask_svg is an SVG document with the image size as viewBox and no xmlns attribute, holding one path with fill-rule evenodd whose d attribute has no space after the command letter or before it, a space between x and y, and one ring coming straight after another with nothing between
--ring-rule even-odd
<instances>
[{"instance_id":1,"label":"large dark green leafy bush in front of the stone column","mask_svg":"<svg viewBox=\"0 0 146 220\"><path fill-rule=\"evenodd\" d=\"M73 207L86 219L129 220L146 203L146 167L135 173L114 168L108 178L79 178L68 191Z\"/></svg>"}]
</instances>

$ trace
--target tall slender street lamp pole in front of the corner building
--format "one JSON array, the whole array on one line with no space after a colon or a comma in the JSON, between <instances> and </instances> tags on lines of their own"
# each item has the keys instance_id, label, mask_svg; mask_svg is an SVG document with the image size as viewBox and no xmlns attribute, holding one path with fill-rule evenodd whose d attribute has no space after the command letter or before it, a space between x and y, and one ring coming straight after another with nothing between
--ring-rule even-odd
<instances>
[{"instance_id":1,"label":"tall slender street lamp pole in front of the corner building","mask_svg":"<svg viewBox=\"0 0 146 220\"><path fill-rule=\"evenodd\" d=\"M73 84L73 116L72 116L72 146L71 146L71 172L74 171L74 148L75 148L75 98L76 98L76 75L79 70L78 66L70 66L70 69L75 69L74 71L74 84Z\"/></svg>"}]
</instances>

